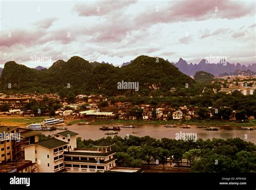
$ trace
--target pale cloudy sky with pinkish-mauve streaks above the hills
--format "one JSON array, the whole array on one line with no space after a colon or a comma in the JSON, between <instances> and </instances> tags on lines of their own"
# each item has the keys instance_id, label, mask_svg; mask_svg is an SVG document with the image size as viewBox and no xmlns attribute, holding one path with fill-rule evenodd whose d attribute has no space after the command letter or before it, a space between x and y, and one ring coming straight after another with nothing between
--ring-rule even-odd
<instances>
[{"instance_id":1,"label":"pale cloudy sky with pinkish-mauve streaks above the hills","mask_svg":"<svg viewBox=\"0 0 256 190\"><path fill-rule=\"evenodd\" d=\"M138 55L197 64L256 62L254 1L1 1L0 67L77 55L113 65Z\"/></svg>"}]
</instances>

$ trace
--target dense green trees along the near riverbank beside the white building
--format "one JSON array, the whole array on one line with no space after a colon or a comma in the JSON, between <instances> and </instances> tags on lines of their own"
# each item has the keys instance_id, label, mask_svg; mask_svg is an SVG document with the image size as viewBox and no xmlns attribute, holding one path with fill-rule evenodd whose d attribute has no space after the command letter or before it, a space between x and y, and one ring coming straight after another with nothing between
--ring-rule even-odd
<instances>
[{"instance_id":1,"label":"dense green trees along the near riverbank beside the white building","mask_svg":"<svg viewBox=\"0 0 256 190\"><path fill-rule=\"evenodd\" d=\"M102 138L103 139L103 138ZM99 140L77 138L77 147L93 147ZM149 136L130 136L129 139L107 137L114 143L117 164L125 167L140 167L143 164L166 163L167 158L178 166L182 159L191 163L191 172L256 172L256 146L240 138L212 140L198 139L196 142Z\"/></svg>"}]
</instances>

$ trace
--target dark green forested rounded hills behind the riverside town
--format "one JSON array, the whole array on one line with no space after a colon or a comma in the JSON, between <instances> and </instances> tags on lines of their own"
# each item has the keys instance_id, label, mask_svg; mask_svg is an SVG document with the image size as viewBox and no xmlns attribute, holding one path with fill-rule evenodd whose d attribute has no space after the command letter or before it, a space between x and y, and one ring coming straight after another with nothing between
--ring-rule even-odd
<instances>
[{"instance_id":1,"label":"dark green forested rounded hills behind the riverside town","mask_svg":"<svg viewBox=\"0 0 256 190\"><path fill-rule=\"evenodd\" d=\"M130 95L134 90L117 89L117 82L139 82L139 92L148 95L153 86L160 92L172 87L185 88L185 83L193 85L194 81L181 73L177 67L164 59L139 56L132 64L125 67L114 67L109 64L90 64L88 61L72 57L67 62L58 60L49 69L38 71L14 61L6 62L2 77L1 89L6 93L55 93L61 97L69 95L73 102L77 94ZM8 88L11 83L12 87Z\"/></svg>"}]
</instances>

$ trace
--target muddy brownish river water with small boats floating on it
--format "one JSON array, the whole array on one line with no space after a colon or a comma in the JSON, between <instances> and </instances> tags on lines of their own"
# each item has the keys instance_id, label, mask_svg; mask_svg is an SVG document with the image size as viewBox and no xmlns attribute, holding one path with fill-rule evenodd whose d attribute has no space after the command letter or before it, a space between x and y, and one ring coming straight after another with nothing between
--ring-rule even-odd
<instances>
[{"instance_id":1,"label":"muddy brownish river water with small boats floating on it","mask_svg":"<svg viewBox=\"0 0 256 190\"><path fill-rule=\"evenodd\" d=\"M123 126L123 124L103 124L104 126ZM105 135L106 132L111 131L102 131L99 128L103 125L68 125L66 126L68 130L79 133L78 137L82 139L99 139L107 136L114 135ZM256 144L256 130L239 130L238 127L219 127L218 131L206 131L204 128L197 128L197 126L192 126L190 129L179 128L165 128L164 125L135 125L136 128L121 128L118 132L118 136L125 137L126 135L133 136L150 136L156 139L161 138L173 138L177 137L177 133L193 133L194 136L202 139L212 139L212 138L235 138L239 137L243 140L250 141ZM53 135L57 132L62 132L64 130L53 130L53 131L42 131L44 135Z\"/></svg>"}]
</instances>

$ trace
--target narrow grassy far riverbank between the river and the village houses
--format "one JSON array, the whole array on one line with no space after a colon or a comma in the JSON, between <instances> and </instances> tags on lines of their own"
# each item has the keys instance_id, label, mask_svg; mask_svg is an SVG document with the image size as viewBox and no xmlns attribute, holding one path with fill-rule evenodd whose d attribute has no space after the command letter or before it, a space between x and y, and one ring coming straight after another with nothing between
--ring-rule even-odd
<instances>
[{"instance_id":1,"label":"narrow grassy far riverbank between the river and the village houses","mask_svg":"<svg viewBox=\"0 0 256 190\"><path fill-rule=\"evenodd\" d=\"M79 119L69 122L69 125L78 124L80 122L91 122L85 119ZM256 119L250 120L246 123L236 123L235 121L223 122L223 121L143 121L143 120L112 120L112 121L92 121L91 124L101 125L101 124L134 124L134 125L166 125L166 124L177 124L177 125L197 125L197 126L256 126Z\"/></svg>"}]
</instances>

